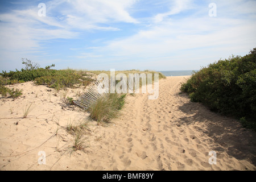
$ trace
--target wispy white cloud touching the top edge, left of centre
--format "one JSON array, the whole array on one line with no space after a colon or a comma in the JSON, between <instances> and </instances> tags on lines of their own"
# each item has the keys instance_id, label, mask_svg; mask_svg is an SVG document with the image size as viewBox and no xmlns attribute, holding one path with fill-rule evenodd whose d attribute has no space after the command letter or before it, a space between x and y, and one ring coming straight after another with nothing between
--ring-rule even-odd
<instances>
[{"instance_id":1,"label":"wispy white cloud touching the top edge, left of centre","mask_svg":"<svg viewBox=\"0 0 256 182\"><path fill-rule=\"evenodd\" d=\"M135 0L72 0L63 1L68 8L61 9L66 26L81 30L117 31L118 27L108 26L113 23L139 23L129 14ZM51 3L52 5L53 3ZM57 3L59 6L59 3ZM51 7L53 9L53 5Z\"/></svg>"}]
</instances>

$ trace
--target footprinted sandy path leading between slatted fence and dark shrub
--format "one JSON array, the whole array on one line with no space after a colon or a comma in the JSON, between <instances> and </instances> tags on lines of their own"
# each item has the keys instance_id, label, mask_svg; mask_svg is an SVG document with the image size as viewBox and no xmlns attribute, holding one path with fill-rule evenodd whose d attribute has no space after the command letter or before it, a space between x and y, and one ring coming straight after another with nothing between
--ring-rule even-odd
<instances>
[{"instance_id":1,"label":"footprinted sandy path leading between slatted fence and dark shrub","mask_svg":"<svg viewBox=\"0 0 256 182\"><path fill-rule=\"evenodd\" d=\"M102 161L102 169L256 169L255 133L190 102L179 94L182 81L185 77L161 80L158 100L148 100L146 94L128 98L122 119L101 141L101 150L108 152L101 160L109 159ZM217 153L216 165L208 162L210 151Z\"/></svg>"}]
</instances>

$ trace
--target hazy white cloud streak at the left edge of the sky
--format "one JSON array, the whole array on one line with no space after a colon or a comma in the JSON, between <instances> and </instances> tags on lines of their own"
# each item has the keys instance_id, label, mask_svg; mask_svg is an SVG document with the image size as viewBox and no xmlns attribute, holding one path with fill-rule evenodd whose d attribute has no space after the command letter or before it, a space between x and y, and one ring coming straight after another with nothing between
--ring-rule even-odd
<instances>
[{"instance_id":1,"label":"hazy white cloud streak at the left edge of the sky","mask_svg":"<svg viewBox=\"0 0 256 182\"><path fill-rule=\"evenodd\" d=\"M57 38L70 39L77 36L77 33L62 28L51 18L37 16L36 12L23 10L0 15L1 49L26 51L40 48L42 41ZM49 26L55 28L49 28Z\"/></svg>"}]
</instances>

